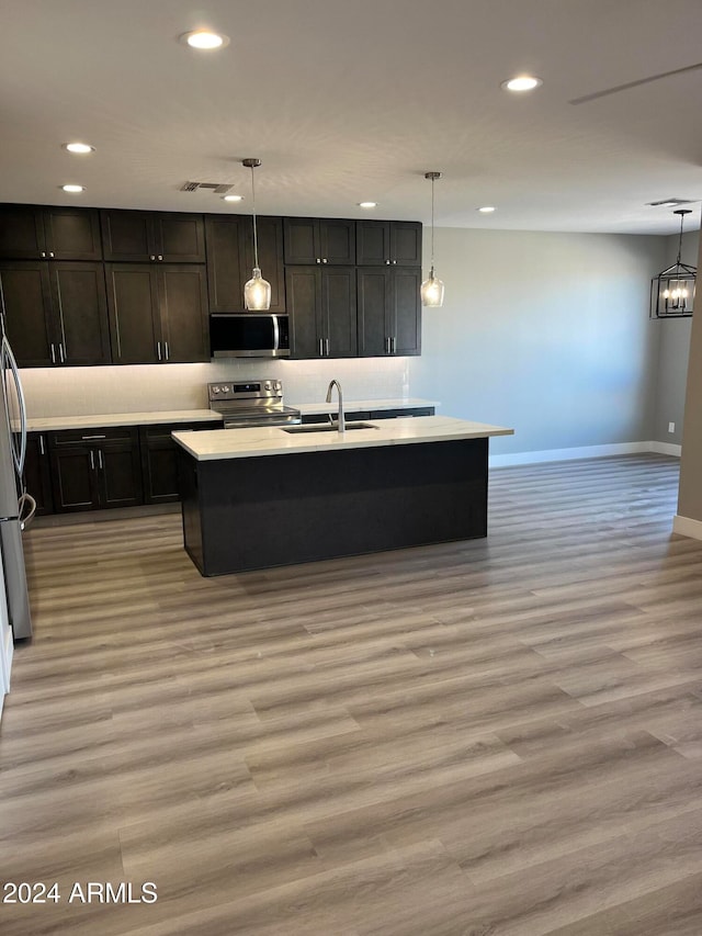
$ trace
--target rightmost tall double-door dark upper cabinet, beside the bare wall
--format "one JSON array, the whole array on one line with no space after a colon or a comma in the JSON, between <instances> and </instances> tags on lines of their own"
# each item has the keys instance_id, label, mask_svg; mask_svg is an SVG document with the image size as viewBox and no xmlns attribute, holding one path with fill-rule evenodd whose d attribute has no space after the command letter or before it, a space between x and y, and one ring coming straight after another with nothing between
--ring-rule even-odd
<instances>
[{"instance_id":1,"label":"rightmost tall double-door dark upper cabinet, beside the bare wall","mask_svg":"<svg viewBox=\"0 0 702 936\"><path fill-rule=\"evenodd\" d=\"M359 354L400 357L421 352L421 270L360 267Z\"/></svg>"}]
</instances>

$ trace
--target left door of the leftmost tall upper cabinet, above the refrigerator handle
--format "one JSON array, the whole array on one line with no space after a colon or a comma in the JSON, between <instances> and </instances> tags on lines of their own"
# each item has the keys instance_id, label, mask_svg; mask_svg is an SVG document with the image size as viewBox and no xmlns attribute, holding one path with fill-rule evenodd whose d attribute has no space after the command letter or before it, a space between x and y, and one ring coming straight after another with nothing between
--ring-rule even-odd
<instances>
[{"instance_id":1,"label":"left door of the leftmost tall upper cabinet, above the refrigerator handle","mask_svg":"<svg viewBox=\"0 0 702 936\"><path fill-rule=\"evenodd\" d=\"M0 302L8 340L18 364L49 368L56 363L48 263L41 260L0 262Z\"/></svg>"}]
</instances>

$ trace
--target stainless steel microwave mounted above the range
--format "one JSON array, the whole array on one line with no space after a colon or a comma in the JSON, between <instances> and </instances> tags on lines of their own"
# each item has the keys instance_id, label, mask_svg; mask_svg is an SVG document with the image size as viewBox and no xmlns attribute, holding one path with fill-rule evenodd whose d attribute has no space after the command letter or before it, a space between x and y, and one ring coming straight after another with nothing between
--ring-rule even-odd
<instances>
[{"instance_id":1,"label":"stainless steel microwave mounted above the range","mask_svg":"<svg viewBox=\"0 0 702 936\"><path fill-rule=\"evenodd\" d=\"M273 313L214 313L210 316L213 358L290 358L290 323Z\"/></svg>"}]
</instances>

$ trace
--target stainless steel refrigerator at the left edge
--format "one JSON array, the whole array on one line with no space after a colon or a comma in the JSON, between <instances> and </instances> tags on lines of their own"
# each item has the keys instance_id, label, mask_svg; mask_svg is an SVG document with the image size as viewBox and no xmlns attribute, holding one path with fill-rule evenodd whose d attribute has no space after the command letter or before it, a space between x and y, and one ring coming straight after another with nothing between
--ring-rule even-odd
<instances>
[{"instance_id":1,"label":"stainless steel refrigerator at the left edge","mask_svg":"<svg viewBox=\"0 0 702 936\"><path fill-rule=\"evenodd\" d=\"M36 504L24 490L26 407L14 354L2 329L0 347L0 549L10 624L15 640L32 636L22 531Z\"/></svg>"}]
</instances>

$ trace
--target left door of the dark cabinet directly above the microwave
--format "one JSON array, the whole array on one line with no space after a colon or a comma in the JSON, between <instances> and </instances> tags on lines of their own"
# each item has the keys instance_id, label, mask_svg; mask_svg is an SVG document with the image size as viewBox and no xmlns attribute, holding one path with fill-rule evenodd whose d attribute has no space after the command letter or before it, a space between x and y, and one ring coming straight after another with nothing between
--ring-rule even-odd
<instances>
[{"instance_id":1,"label":"left door of the dark cabinet directly above the microwave","mask_svg":"<svg viewBox=\"0 0 702 936\"><path fill-rule=\"evenodd\" d=\"M246 280L242 271L247 266L244 227L247 222L250 223L250 218L240 215L205 217L210 312L244 312Z\"/></svg>"}]
</instances>

